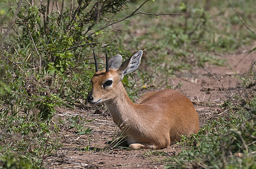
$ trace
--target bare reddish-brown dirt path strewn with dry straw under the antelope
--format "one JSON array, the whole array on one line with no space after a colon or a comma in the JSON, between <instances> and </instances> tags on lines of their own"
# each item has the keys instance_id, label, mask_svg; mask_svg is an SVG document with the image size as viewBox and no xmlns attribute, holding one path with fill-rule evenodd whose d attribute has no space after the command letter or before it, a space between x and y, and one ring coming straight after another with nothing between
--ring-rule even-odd
<instances>
[{"instance_id":1,"label":"bare reddish-brown dirt path strewn with dry straw under the antelope","mask_svg":"<svg viewBox=\"0 0 256 169\"><path fill-rule=\"evenodd\" d=\"M245 90L241 87L242 80L237 78L248 73L253 62L256 61L255 52L245 56L245 51L222 56L227 60L225 66L209 64L205 68L177 72L175 78L169 79L173 86L182 83L177 90L193 101L199 114L200 126L228 112L220 108L224 100L228 99L227 96L240 95L246 99L251 96L250 92L255 90L255 85ZM220 88L226 91L226 96ZM119 130L103 107L78 106L76 109L59 109L54 118L68 118L75 115L80 115L88 121L93 120L86 123L87 127L93 129L92 133L76 135L66 124L63 124L56 135L56 138L61 139L63 146L58 149L57 155L45 158L45 162L48 163L46 168L164 168L168 158L182 150L180 144L157 150L158 153L148 149L109 148L106 143L111 141Z\"/></svg>"}]
</instances>

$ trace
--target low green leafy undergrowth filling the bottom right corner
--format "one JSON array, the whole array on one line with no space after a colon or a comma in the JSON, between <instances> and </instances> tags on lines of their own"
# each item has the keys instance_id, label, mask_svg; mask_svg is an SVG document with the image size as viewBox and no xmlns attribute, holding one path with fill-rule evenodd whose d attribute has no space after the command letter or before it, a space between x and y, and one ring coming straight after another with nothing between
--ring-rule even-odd
<instances>
[{"instance_id":1,"label":"low green leafy undergrowth filling the bottom right corner","mask_svg":"<svg viewBox=\"0 0 256 169\"><path fill-rule=\"evenodd\" d=\"M180 144L186 148L170 158L168 168L255 168L256 97L239 107L228 114L231 121L219 118L184 137Z\"/></svg>"}]
</instances>

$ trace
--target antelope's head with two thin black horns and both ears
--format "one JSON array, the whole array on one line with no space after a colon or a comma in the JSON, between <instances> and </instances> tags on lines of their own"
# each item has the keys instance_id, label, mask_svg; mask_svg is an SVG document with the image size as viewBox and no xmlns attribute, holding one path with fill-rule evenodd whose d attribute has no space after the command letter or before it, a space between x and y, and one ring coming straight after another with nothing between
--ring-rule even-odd
<instances>
[{"instance_id":1,"label":"antelope's head with two thin black horns and both ears","mask_svg":"<svg viewBox=\"0 0 256 169\"><path fill-rule=\"evenodd\" d=\"M95 53L95 74L92 77L92 90L87 96L91 105L99 105L113 101L122 90L122 79L125 74L138 69L143 51L136 52L122 64L122 56L116 55L108 60L106 55L106 69L99 71Z\"/></svg>"}]
</instances>

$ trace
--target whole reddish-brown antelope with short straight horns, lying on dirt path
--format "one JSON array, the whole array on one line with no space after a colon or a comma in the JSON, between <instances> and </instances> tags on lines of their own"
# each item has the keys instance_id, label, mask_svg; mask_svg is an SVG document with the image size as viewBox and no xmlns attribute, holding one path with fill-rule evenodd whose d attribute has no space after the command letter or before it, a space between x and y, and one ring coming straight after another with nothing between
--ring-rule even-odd
<instances>
[{"instance_id":1,"label":"whole reddish-brown antelope with short straight horns, lying on dirt path","mask_svg":"<svg viewBox=\"0 0 256 169\"><path fill-rule=\"evenodd\" d=\"M180 92L165 89L149 92L133 103L122 84L123 75L138 69L143 51L136 52L123 64L122 56L113 56L106 69L92 77L91 105L106 104L113 121L127 136L129 148L162 149L181 139L181 135L197 134L198 114L193 103Z\"/></svg>"}]
</instances>

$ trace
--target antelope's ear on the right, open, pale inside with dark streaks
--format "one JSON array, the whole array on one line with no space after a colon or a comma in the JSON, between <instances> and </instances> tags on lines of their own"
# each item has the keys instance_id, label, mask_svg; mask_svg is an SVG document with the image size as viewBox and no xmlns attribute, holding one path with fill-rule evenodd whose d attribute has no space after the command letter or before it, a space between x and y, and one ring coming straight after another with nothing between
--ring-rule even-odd
<instances>
[{"instance_id":1,"label":"antelope's ear on the right, open, pale inside with dark streaks","mask_svg":"<svg viewBox=\"0 0 256 169\"><path fill-rule=\"evenodd\" d=\"M123 72L123 75L133 73L139 68L140 60L142 59L143 51L136 52L133 56L127 59L119 68Z\"/></svg>"}]
</instances>

